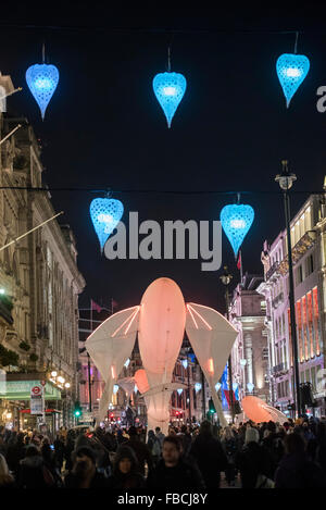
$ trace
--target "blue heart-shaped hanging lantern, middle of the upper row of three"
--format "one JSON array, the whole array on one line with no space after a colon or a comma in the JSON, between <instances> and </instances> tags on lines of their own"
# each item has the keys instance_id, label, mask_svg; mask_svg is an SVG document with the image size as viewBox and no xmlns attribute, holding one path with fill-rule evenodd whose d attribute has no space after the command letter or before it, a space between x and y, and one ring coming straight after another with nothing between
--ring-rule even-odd
<instances>
[{"instance_id":1,"label":"blue heart-shaped hanging lantern, middle of the upper row of three","mask_svg":"<svg viewBox=\"0 0 326 510\"><path fill-rule=\"evenodd\" d=\"M153 89L159 103L166 116L167 126L183 99L187 80L180 73L159 73L153 79Z\"/></svg>"}]
</instances>

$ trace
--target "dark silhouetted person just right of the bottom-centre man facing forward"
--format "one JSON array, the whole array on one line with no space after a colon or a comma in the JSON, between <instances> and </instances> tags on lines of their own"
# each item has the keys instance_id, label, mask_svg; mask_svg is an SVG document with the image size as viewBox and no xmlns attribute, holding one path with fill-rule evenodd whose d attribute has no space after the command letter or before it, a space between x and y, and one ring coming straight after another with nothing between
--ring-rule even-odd
<instances>
[{"instance_id":1,"label":"dark silhouetted person just right of the bottom-centre man facing forward","mask_svg":"<svg viewBox=\"0 0 326 510\"><path fill-rule=\"evenodd\" d=\"M199 434L191 445L189 457L196 460L206 488L218 488L221 471L227 468L227 458L220 440L213 436L209 421L202 422Z\"/></svg>"}]
</instances>

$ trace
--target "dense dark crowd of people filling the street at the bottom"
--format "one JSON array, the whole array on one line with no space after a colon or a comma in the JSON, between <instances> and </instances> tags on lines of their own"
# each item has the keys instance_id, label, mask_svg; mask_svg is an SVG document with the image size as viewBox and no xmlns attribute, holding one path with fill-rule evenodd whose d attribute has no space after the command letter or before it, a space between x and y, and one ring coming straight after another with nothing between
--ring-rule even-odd
<instances>
[{"instance_id":1,"label":"dense dark crowd of people filling the street at the bottom","mask_svg":"<svg viewBox=\"0 0 326 510\"><path fill-rule=\"evenodd\" d=\"M225 428L131 426L55 439L0 428L1 488L326 488L326 421L251 421Z\"/></svg>"}]
</instances>

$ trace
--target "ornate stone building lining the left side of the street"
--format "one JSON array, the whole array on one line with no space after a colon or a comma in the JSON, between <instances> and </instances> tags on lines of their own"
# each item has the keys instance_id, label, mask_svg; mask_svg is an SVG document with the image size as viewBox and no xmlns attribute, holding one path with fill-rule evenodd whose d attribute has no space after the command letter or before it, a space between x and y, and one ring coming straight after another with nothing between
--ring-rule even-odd
<instances>
[{"instance_id":1,"label":"ornate stone building lining the left side of the street","mask_svg":"<svg viewBox=\"0 0 326 510\"><path fill-rule=\"evenodd\" d=\"M0 83L10 94L10 78L1 75ZM33 191L43 186L42 164L27 120L0 113L0 139L17 124L22 127L0 145L0 183L7 187L0 190L0 247L55 214L50 194ZM0 251L0 300L1 310L7 310L0 326L2 424L35 425L28 413L30 386L40 381L48 425L54 430L73 424L78 396L77 301L84 287L73 233L57 220Z\"/></svg>"}]
</instances>

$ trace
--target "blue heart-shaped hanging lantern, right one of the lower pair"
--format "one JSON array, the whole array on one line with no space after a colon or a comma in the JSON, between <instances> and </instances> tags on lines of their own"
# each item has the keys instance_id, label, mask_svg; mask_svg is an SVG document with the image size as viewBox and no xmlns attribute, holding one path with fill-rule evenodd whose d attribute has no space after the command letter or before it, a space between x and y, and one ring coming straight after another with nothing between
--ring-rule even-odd
<instances>
[{"instance_id":1,"label":"blue heart-shaped hanging lantern, right one of the lower pair","mask_svg":"<svg viewBox=\"0 0 326 510\"><path fill-rule=\"evenodd\" d=\"M252 225L254 212L251 206L234 203L225 206L221 211L221 223L226 237L231 244L235 257Z\"/></svg>"}]
</instances>

